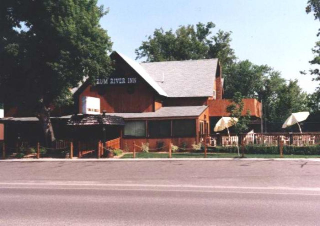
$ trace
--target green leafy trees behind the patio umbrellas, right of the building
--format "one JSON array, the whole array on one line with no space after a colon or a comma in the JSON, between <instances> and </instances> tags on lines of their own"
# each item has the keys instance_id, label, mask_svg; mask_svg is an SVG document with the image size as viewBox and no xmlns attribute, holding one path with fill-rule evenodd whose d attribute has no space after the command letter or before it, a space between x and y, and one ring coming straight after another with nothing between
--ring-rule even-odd
<instances>
[{"instance_id":1,"label":"green leafy trees behind the patio umbrellas, right of the building","mask_svg":"<svg viewBox=\"0 0 320 226\"><path fill-rule=\"evenodd\" d=\"M236 62L224 70L225 98L243 98L262 102L264 131L278 131L292 112L316 108L314 96L301 90L297 80L288 83L280 72L267 65L255 65L248 60Z\"/></svg>"}]
</instances>

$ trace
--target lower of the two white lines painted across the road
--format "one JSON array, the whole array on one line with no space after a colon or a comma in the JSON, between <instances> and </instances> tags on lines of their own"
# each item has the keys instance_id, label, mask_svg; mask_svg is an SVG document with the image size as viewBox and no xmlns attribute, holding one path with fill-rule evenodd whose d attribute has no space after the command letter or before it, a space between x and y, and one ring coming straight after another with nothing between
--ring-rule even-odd
<instances>
[{"instance_id":1,"label":"lower of the two white lines painted across the road","mask_svg":"<svg viewBox=\"0 0 320 226\"><path fill-rule=\"evenodd\" d=\"M47 187L0 187L0 189L30 189L30 190L99 190L99 191L137 191L137 192L190 192L190 193L236 193L265 195L299 195L320 196L320 194L276 193L276 192L237 192L237 191L202 191L202 190L168 190L168 189L113 189L113 188L47 188Z\"/></svg>"}]
</instances>

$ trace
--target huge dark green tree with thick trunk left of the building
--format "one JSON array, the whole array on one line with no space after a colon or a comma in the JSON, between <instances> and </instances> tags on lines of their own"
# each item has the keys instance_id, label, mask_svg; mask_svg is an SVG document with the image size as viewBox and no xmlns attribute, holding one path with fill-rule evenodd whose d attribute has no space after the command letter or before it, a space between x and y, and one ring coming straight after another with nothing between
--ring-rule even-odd
<instances>
[{"instance_id":1,"label":"huge dark green tree with thick trunk left of the building","mask_svg":"<svg viewBox=\"0 0 320 226\"><path fill-rule=\"evenodd\" d=\"M112 43L97 0L0 2L0 102L32 109L45 141L53 141L52 105L69 103L70 88L111 71Z\"/></svg>"}]
</instances>

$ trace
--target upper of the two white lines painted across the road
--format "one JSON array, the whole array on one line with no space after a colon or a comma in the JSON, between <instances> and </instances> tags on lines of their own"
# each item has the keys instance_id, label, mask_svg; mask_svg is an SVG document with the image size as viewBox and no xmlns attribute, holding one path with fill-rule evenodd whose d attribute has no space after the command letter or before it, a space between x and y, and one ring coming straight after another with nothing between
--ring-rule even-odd
<instances>
[{"instance_id":1,"label":"upper of the two white lines painted across the road","mask_svg":"<svg viewBox=\"0 0 320 226\"><path fill-rule=\"evenodd\" d=\"M162 185L162 184L103 184L103 183L79 183L79 182L47 182L47 183L11 183L0 182L0 185L39 185L39 186L91 186L91 187L145 187L145 188L185 188L185 189L237 189L237 190L283 190L283 191L314 191L320 192L320 188L309 187L248 187L248 186L206 186L206 185Z\"/></svg>"}]
</instances>

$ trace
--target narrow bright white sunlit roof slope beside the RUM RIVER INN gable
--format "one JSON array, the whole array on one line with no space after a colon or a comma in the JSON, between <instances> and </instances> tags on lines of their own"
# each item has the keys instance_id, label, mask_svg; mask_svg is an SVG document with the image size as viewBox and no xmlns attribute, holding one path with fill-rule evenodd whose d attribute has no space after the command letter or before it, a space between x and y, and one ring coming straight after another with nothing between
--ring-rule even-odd
<instances>
[{"instance_id":1,"label":"narrow bright white sunlit roof slope beside the RUM RIVER INN gable","mask_svg":"<svg viewBox=\"0 0 320 226\"><path fill-rule=\"evenodd\" d=\"M141 65L131 60L129 57L114 51L117 53L129 66L136 71L159 95L168 96L166 92L152 79L152 77L141 67Z\"/></svg>"}]
</instances>

